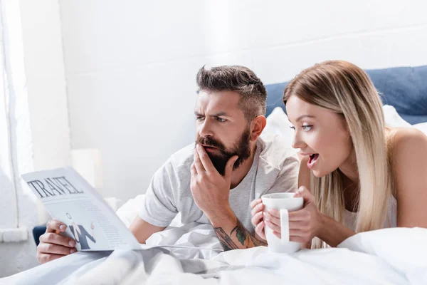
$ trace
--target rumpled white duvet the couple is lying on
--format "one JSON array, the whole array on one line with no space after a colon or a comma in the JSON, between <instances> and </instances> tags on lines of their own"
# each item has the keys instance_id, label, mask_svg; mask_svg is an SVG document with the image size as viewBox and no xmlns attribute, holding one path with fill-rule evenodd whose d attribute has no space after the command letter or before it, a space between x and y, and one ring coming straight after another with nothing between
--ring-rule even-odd
<instances>
[{"instance_id":1,"label":"rumpled white duvet the couple is lying on","mask_svg":"<svg viewBox=\"0 0 427 285\"><path fill-rule=\"evenodd\" d=\"M154 234L147 244L70 254L0 284L427 284L421 228L365 232L338 248L293 255L266 247L221 252L211 226L196 223Z\"/></svg>"}]
</instances>

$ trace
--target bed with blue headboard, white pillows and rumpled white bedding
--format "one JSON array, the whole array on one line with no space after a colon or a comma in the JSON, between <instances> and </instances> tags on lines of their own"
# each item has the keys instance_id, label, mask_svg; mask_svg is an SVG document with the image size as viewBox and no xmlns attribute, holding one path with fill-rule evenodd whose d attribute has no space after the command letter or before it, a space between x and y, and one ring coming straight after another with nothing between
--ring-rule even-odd
<instances>
[{"instance_id":1,"label":"bed with blue headboard, white pillows and rumpled white bedding","mask_svg":"<svg viewBox=\"0 0 427 285\"><path fill-rule=\"evenodd\" d=\"M427 66L367 73L382 94L386 123L427 133ZM285 85L266 86L266 135L287 135L281 128ZM125 224L143 200L139 195L117 211ZM222 252L211 226L180 224L176 217L141 251L78 252L0 284L427 284L426 241L427 229L395 228L356 234L334 249L293 255L266 247Z\"/></svg>"}]
</instances>

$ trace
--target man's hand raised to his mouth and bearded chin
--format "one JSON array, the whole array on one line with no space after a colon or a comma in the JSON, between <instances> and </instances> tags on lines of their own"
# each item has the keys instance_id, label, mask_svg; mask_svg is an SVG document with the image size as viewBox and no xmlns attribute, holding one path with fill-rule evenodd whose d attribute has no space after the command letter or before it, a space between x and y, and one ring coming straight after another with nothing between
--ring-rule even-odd
<instances>
[{"instance_id":1,"label":"man's hand raised to his mouth and bearded chin","mask_svg":"<svg viewBox=\"0 0 427 285\"><path fill-rule=\"evenodd\" d=\"M218 173L204 147L197 144L194 150L194 162L191 165L191 193L194 202L209 218L218 212L229 208L231 172L237 155L231 157L227 164L225 175Z\"/></svg>"}]
</instances>

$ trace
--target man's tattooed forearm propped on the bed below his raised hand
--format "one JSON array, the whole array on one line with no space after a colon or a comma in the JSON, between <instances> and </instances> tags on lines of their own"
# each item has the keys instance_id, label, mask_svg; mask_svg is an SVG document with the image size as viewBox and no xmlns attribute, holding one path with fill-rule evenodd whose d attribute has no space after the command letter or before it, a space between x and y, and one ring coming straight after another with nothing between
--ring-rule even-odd
<instances>
[{"instance_id":1,"label":"man's tattooed forearm propped on the bed below his raised hand","mask_svg":"<svg viewBox=\"0 0 427 285\"><path fill-rule=\"evenodd\" d=\"M209 220L224 250L267 246L266 242L254 237L243 227L231 209L224 211L221 217L210 217Z\"/></svg>"}]
</instances>

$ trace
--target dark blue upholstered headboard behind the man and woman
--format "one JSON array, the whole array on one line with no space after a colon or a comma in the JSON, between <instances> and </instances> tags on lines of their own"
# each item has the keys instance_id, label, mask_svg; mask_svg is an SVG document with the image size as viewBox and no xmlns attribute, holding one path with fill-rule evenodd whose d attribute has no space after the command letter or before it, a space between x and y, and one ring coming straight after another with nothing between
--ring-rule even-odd
<instances>
[{"instance_id":1,"label":"dark blue upholstered headboard behind the man and woman","mask_svg":"<svg viewBox=\"0 0 427 285\"><path fill-rule=\"evenodd\" d=\"M366 71L381 93L384 105L396 108L406 122L427 122L427 66L397 67ZM283 89L288 82L266 85L267 115L283 105ZM285 110L286 111L286 110Z\"/></svg>"}]
</instances>

